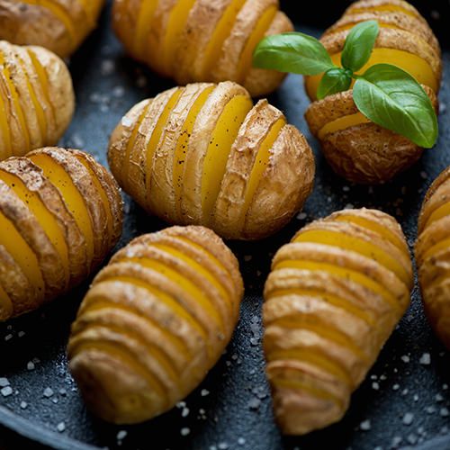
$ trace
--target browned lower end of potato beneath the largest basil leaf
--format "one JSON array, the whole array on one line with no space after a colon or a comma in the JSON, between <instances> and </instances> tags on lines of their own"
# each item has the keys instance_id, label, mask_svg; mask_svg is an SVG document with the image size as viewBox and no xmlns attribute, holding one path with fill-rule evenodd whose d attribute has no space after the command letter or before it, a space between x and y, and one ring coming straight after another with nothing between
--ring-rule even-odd
<instances>
[{"instance_id":1,"label":"browned lower end of potato beneath the largest basil leaf","mask_svg":"<svg viewBox=\"0 0 450 450\"><path fill-rule=\"evenodd\" d=\"M423 86L436 110L436 94ZM353 91L311 103L305 114L333 170L359 184L382 184L419 160L423 148L369 121L356 108Z\"/></svg>"}]
</instances>

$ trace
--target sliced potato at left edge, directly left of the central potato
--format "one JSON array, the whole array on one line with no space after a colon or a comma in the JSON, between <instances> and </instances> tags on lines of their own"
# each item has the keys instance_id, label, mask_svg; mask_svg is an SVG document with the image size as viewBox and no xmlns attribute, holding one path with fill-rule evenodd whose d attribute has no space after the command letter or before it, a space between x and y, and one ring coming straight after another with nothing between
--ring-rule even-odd
<instances>
[{"instance_id":1,"label":"sliced potato at left edge, directly left of the central potato","mask_svg":"<svg viewBox=\"0 0 450 450\"><path fill-rule=\"evenodd\" d=\"M41 148L0 163L0 320L85 279L121 236L121 195L86 153Z\"/></svg>"}]
</instances>

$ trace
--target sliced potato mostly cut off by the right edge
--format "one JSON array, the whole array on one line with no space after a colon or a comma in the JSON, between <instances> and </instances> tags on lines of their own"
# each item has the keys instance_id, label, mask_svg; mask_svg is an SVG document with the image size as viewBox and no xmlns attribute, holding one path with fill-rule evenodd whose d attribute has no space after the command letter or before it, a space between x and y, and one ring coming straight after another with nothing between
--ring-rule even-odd
<instances>
[{"instance_id":1,"label":"sliced potato mostly cut off by the right edge","mask_svg":"<svg viewBox=\"0 0 450 450\"><path fill-rule=\"evenodd\" d=\"M419 216L416 260L428 320L450 348L450 167L430 186ZM442 212L436 212L443 208ZM440 247L436 247L441 244Z\"/></svg>"}]
</instances>

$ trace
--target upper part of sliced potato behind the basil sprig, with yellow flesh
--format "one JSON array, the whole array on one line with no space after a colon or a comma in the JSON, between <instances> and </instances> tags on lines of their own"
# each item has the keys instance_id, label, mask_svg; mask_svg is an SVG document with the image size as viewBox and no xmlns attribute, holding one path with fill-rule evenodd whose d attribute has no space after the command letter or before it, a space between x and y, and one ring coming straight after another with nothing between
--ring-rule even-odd
<instances>
[{"instance_id":1,"label":"upper part of sliced potato behind the basil sprig, with yellow flesh","mask_svg":"<svg viewBox=\"0 0 450 450\"><path fill-rule=\"evenodd\" d=\"M320 39L333 62L341 66L342 50L350 29L368 20L380 24L380 34L371 58L358 74L375 64L392 64L406 70L437 94L442 77L439 43L425 19L403 0L363 0L352 4ZM322 76L305 77L305 88L312 101L317 100Z\"/></svg>"}]
</instances>

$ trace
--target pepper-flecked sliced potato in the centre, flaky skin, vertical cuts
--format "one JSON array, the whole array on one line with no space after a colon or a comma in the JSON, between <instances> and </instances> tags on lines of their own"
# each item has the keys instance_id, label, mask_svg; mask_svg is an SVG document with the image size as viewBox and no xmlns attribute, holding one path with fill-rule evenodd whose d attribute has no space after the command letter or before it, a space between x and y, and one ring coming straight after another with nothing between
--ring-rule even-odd
<instances>
[{"instance_id":1,"label":"pepper-flecked sliced potato in the centre, flaky skin, vertical cuts","mask_svg":"<svg viewBox=\"0 0 450 450\"><path fill-rule=\"evenodd\" d=\"M224 82L175 87L137 104L112 133L112 174L147 211L223 238L282 228L311 192L302 133L266 100Z\"/></svg>"}]
</instances>

